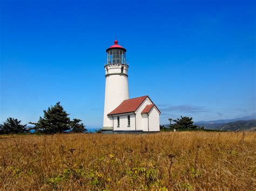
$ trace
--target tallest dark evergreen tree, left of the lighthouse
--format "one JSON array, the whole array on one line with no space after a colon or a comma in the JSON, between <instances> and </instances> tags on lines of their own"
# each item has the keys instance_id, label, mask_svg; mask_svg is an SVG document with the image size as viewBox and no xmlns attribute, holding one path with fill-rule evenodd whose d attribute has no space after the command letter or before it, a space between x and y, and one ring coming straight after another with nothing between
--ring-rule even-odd
<instances>
[{"instance_id":1,"label":"tallest dark evergreen tree, left of the lighthouse","mask_svg":"<svg viewBox=\"0 0 256 191\"><path fill-rule=\"evenodd\" d=\"M35 125L35 129L38 132L53 134L63 133L64 131L70 130L70 118L69 114L63 109L60 102L56 105L44 110L44 117L39 117L37 123L31 123Z\"/></svg>"}]
</instances>

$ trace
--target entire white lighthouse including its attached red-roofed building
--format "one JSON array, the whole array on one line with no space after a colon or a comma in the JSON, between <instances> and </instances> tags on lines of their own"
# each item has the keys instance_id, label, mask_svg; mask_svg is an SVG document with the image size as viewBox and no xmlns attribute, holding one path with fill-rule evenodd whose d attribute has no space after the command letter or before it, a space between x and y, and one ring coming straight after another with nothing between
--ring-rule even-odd
<instances>
[{"instance_id":1,"label":"entire white lighthouse including its attached red-roofed building","mask_svg":"<svg viewBox=\"0 0 256 191\"><path fill-rule=\"evenodd\" d=\"M106 49L105 104L103 132L157 132L160 131L161 112L149 96L129 99L128 63L126 49L114 41Z\"/></svg>"}]
</instances>

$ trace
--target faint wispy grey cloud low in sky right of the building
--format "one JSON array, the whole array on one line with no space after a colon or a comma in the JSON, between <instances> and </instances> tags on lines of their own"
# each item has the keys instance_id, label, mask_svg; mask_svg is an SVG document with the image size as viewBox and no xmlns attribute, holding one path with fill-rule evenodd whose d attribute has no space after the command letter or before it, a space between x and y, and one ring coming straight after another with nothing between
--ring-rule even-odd
<instances>
[{"instance_id":1,"label":"faint wispy grey cloud low in sky right of the building","mask_svg":"<svg viewBox=\"0 0 256 191\"><path fill-rule=\"evenodd\" d=\"M161 108L160 111L163 112L183 112L183 113L198 113L198 112L207 112L205 107L192 106L192 105L176 105L170 106L167 108Z\"/></svg>"}]
</instances>

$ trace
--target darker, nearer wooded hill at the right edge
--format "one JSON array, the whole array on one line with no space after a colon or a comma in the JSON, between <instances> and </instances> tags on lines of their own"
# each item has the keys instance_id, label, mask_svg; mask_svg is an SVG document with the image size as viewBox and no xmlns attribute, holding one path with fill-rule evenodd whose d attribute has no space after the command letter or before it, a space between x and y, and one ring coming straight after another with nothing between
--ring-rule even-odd
<instances>
[{"instance_id":1,"label":"darker, nearer wooded hill at the right edge","mask_svg":"<svg viewBox=\"0 0 256 191\"><path fill-rule=\"evenodd\" d=\"M223 125L221 131L256 131L256 120L236 121Z\"/></svg>"}]
</instances>

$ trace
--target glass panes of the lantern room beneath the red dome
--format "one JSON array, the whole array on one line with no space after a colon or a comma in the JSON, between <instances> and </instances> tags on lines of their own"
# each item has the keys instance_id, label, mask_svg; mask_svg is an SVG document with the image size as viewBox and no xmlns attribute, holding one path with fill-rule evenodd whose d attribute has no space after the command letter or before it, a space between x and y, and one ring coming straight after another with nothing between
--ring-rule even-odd
<instances>
[{"instance_id":1,"label":"glass panes of the lantern room beneath the red dome","mask_svg":"<svg viewBox=\"0 0 256 191\"><path fill-rule=\"evenodd\" d=\"M107 64L111 63L124 63L125 61L125 51L123 49L110 49L107 51Z\"/></svg>"}]
</instances>

